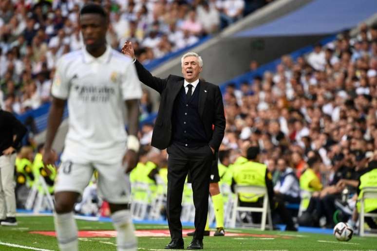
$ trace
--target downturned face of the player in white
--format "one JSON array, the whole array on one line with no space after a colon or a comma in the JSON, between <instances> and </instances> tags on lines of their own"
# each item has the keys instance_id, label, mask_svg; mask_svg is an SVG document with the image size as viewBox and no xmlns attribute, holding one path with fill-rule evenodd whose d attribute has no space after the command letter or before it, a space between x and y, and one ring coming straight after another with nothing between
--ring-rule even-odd
<instances>
[{"instance_id":1,"label":"downturned face of the player in white","mask_svg":"<svg viewBox=\"0 0 377 251\"><path fill-rule=\"evenodd\" d=\"M106 42L107 20L99 14L83 14L80 17L80 28L84 44L88 49L95 49Z\"/></svg>"}]
</instances>

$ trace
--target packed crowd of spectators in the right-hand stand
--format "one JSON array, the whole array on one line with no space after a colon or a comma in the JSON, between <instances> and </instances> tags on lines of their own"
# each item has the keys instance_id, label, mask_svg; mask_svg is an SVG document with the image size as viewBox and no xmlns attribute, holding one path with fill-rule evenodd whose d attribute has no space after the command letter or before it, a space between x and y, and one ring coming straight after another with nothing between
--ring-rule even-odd
<instances>
[{"instance_id":1,"label":"packed crowd of spectators in the right-hand stand","mask_svg":"<svg viewBox=\"0 0 377 251\"><path fill-rule=\"evenodd\" d=\"M299 196L300 186L305 189L306 169L318 176L307 188L313 195L311 218L303 217L303 224L319 226L325 216L326 226L334 226L337 208L357 190L351 187L342 197L346 180L358 180L376 167L377 29L359 28L356 37L340 34L296 61L284 55L276 72L264 72L240 89L230 84L224 94L223 147L231 149L231 162L240 149L259 146L260 161L286 202ZM285 179L290 172L297 179Z\"/></svg>"}]
</instances>

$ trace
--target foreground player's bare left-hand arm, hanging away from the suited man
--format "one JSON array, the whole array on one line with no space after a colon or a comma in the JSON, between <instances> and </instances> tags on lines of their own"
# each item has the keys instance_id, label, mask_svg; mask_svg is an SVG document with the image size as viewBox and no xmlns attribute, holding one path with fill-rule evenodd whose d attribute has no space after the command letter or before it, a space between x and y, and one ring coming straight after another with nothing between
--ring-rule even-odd
<instances>
[{"instance_id":1,"label":"foreground player's bare left-hand arm, hanging away from the suited man","mask_svg":"<svg viewBox=\"0 0 377 251\"><path fill-rule=\"evenodd\" d=\"M43 163L54 164L54 155L52 154L52 143L57 134L57 129L63 117L65 100L53 97L47 120L46 142L44 145Z\"/></svg>"}]
</instances>

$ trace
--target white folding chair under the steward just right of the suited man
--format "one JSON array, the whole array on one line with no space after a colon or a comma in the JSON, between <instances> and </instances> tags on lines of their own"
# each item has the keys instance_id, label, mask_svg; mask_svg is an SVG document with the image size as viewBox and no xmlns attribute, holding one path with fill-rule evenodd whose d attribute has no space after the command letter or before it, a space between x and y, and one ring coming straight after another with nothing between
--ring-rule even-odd
<instances>
[{"instance_id":1,"label":"white folding chair under the steward just right of the suited man","mask_svg":"<svg viewBox=\"0 0 377 251\"><path fill-rule=\"evenodd\" d=\"M238 199L236 199L235 203L233 204L233 212L232 212L232 227L236 227L236 218L237 212L261 212L262 213L262 222L261 222L261 230L265 230L266 227L266 218L268 216L268 225L269 229L273 229L272 227L272 216L271 210L268 201L268 194L267 189L261 186L245 186L245 185L236 185L234 187L234 192L236 198L238 198L239 193L251 193L255 194L255 196L263 196L263 207L240 207L238 205Z\"/></svg>"}]
</instances>

